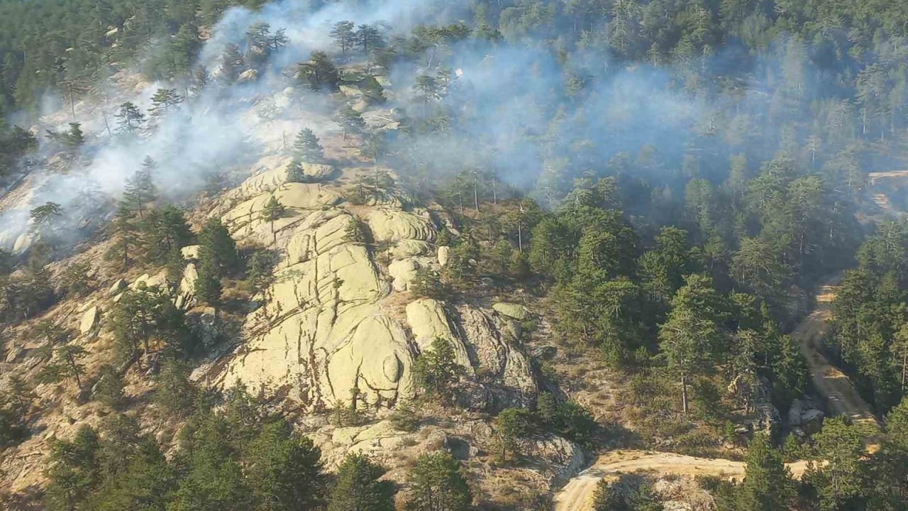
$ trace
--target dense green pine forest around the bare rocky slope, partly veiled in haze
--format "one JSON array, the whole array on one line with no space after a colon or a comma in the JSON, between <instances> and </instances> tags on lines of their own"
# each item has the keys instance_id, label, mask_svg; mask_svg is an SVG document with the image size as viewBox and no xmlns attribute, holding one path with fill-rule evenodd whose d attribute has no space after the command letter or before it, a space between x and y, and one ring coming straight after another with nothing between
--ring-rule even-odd
<instances>
[{"instance_id":1,"label":"dense green pine forest around the bare rocky slope, partly veiled in haze","mask_svg":"<svg viewBox=\"0 0 908 511\"><path fill-rule=\"evenodd\" d=\"M202 91L230 101L224 91L270 76L275 55L302 52L282 76L306 94L327 104L356 82L364 103L400 113L400 129L380 132L350 105L334 115L343 140L356 140L361 160L374 166L347 200L367 205L393 195L406 207L437 206L451 219L437 240L449 246L449 262L440 272L420 270L414 296L456 302L491 282L538 297L553 313L558 342L633 382L643 446L665 437L672 449L694 454L706 444L747 445L743 482L699 481L717 509L903 508L908 225L867 219L890 213L868 200L868 173L901 170L905 161L908 6L473 0L399 27L359 23L356 15L376 3L341 2L350 21L319 25L324 45L285 35L281 21L305 22L281 14L332 4L273 5L265 21L223 41L209 38L225 9L251 13L263 3L0 0L0 116L7 119L0 176L30 171L32 155L64 155L66 164L54 169L60 174L91 169L86 147L102 136L84 134L76 119L46 135L16 123L48 108L75 116L74 103L101 94L118 72L161 85L147 111L126 102L109 112L110 144L141 144L164 116L192 113ZM202 48L217 53L217 69L202 66ZM350 63L358 67L346 69ZM360 76L363 66L388 70L394 94ZM286 152L293 157L288 182L308 182L303 162L325 159L311 130ZM215 318L232 314L226 287L253 296L271 284L268 250L238 250L217 219L193 232L186 211L153 183L159 156L175 155L145 157L125 171L122 196L95 190L79 203L48 201L30 211L36 243L26 254L0 251L6 324L97 286L84 267L51 282L48 265L75 245L74 225L99 212L104 226L89 234L110 244L105 260L123 273L163 267L177 286L181 249L200 245L194 293ZM216 194L223 178L206 175L202 192ZM262 210L272 233L283 208L272 197ZM368 233L346 235L369 243ZM775 424L767 410L784 413L814 392L789 332L813 305L814 286L838 272L833 327L821 347L881 419L879 450L865 455L868 432L842 417L813 435L767 427L772 435L742 439L735 424L744 416ZM242 391L194 386L190 366L210 346L160 290L123 293L113 317L116 364L161 356L153 399L187 426L167 456L132 416L116 413L101 433L85 426L57 442L46 469L48 509L393 508L396 490L380 480L383 467L351 455L328 476L318 449L285 417ZM84 353L68 344L70 334L38 326L30 336L49 346L40 380L87 387ZM462 375L451 347L433 346L414 368L419 399L456 408ZM94 397L118 410L122 375L104 371ZM518 438L542 431L593 450L619 441L559 393L556 376L543 379L547 391L532 410L497 411L502 465L519 458ZM0 410L4 445L28 435L33 398L18 385ZM722 397L729 387L738 402ZM758 403L761 394L771 406ZM339 426L355 423L356 397L352 410L334 413ZM401 406L392 420L406 429L418 416ZM800 480L784 458L810 462ZM470 506L468 482L450 456L420 457L409 484L408 509ZM600 486L597 511L661 509L639 481Z\"/></svg>"}]
</instances>

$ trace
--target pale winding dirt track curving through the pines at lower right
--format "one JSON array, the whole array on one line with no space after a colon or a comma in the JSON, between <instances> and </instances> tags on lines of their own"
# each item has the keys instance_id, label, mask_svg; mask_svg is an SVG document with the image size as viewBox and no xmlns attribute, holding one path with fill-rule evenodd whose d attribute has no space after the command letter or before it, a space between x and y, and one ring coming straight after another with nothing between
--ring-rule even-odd
<instances>
[{"instance_id":1,"label":"pale winding dirt track curving through the pines at lower right","mask_svg":"<svg viewBox=\"0 0 908 511\"><path fill-rule=\"evenodd\" d=\"M792 332L798 340L801 352L810 365L810 376L814 386L829 402L835 414L851 416L855 422L879 430L879 423L873 417L870 406L858 396L851 380L816 350L816 341L823 336L826 320L832 316L832 301L835 286L841 275L830 276L821 283L816 295L814 312L804 317ZM873 437L869 438L867 450L873 452ZM795 477L804 474L806 463L798 461L786 464ZM614 451L599 456L592 466L568 481L555 496L556 511L592 511L593 494L602 477L608 474L631 472L655 472L672 475L743 476L745 464L727 459L709 459L683 456L674 453L652 451Z\"/></svg>"}]
</instances>

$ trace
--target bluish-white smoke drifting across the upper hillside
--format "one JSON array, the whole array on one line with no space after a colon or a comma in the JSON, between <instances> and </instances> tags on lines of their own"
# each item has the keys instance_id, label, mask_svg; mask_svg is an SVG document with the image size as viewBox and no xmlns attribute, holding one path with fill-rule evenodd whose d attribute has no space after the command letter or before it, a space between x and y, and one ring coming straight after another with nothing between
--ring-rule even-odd
<instances>
[{"instance_id":1,"label":"bluish-white smoke drifting across the upper hillside","mask_svg":"<svg viewBox=\"0 0 908 511\"><path fill-rule=\"evenodd\" d=\"M116 105L131 101L147 111L158 88L183 92L184 81L143 84L134 74L121 73L117 84L99 85L102 97L94 95L77 108L89 140L83 150L87 163L74 164L65 175L36 173L39 185L27 204L7 207L0 214L5 231L0 233L0 245L9 247L27 230L23 211L34 205L53 201L74 211L92 191L115 200L146 155L159 165L155 179L163 194L183 198L200 190L208 175L248 167L275 152L284 138L303 126L317 135L338 130L319 111L320 104L332 100L304 91L292 76L313 50L332 50L334 23L380 25L389 35L407 36L417 25L458 22L468 15L468 5L466 0L349 0L315 8L311 2L280 0L256 12L229 9L212 28L196 65L216 71L229 45L245 53L246 33L257 24L270 25L272 33L283 30L289 43L268 55L254 79L227 84L215 72L211 85L150 122L139 136L115 133ZM550 201L563 195L572 178L584 171L614 172L609 162L617 155L635 158L650 148L663 162L681 162L688 156L696 165L685 172L716 177L724 175L732 154L744 152L754 161L772 156L784 135L776 125L804 115L779 106L786 84L797 82L802 100L824 92L820 85L824 80L817 79L823 71L806 58L795 58L801 49L785 37L764 55L755 57L729 45L696 64L672 66L612 62L596 45L567 48L559 55L526 35L510 40L518 42L442 39L413 58L394 61L388 70L392 94L381 108L400 109L417 122L435 115L437 106L449 113L445 129L392 138L392 152L400 155L395 162L398 174L426 173L425 179L439 183L464 168L479 167ZM709 73L697 74L692 65L708 68ZM459 73L445 86L437 105L433 101L429 106L414 90L416 77L438 75L442 68ZM695 83L696 76L721 75L725 69L750 79L732 93L724 85ZM55 113L44 123L65 128L68 108L58 100L47 104ZM754 128L757 125L760 130ZM755 132L764 135L754 139ZM691 176L681 175L679 163L668 166L637 169L637 175L654 186L677 185L683 183L682 177Z\"/></svg>"}]
</instances>

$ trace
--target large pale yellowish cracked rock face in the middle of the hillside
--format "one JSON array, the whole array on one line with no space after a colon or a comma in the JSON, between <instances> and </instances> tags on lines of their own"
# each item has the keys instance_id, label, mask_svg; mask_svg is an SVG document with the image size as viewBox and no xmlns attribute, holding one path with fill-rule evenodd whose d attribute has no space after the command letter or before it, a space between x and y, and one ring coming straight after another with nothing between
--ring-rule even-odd
<instances>
[{"instance_id":1,"label":"large pale yellowish cracked rock face in the middle of the hillside","mask_svg":"<svg viewBox=\"0 0 908 511\"><path fill-rule=\"evenodd\" d=\"M349 404L354 391L360 406L393 406L414 395L414 358L442 336L468 378L481 369L483 385L497 379L492 390L483 390L483 402L523 403L535 391L528 360L516 344L508 345L517 341L506 320L491 311L446 311L442 302L417 300L406 307L407 325L393 314L416 270L437 266L431 243L437 231L428 211L403 211L395 201L348 209L337 188L284 183L283 160L271 164L281 166L257 168L221 209L234 238L268 245L281 259L262 306L246 317L247 340L212 383L286 391L307 410ZM273 225L261 218L272 194L288 209ZM387 270L351 236L360 221L387 246ZM400 434L371 436L358 431L350 448L383 446Z\"/></svg>"}]
</instances>

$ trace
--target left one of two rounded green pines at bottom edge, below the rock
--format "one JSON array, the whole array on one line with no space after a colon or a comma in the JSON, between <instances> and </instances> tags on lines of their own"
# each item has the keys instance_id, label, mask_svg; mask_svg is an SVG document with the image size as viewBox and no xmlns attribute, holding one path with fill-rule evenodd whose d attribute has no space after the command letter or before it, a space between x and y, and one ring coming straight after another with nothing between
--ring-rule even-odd
<instances>
[{"instance_id":1,"label":"left one of two rounded green pines at bottom edge, below the rock","mask_svg":"<svg viewBox=\"0 0 908 511\"><path fill-rule=\"evenodd\" d=\"M338 467L328 511L393 511L394 484L379 480L384 473L384 467L366 456L347 455Z\"/></svg>"}]
</instances>

